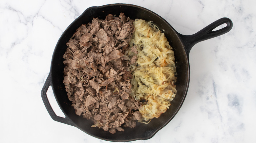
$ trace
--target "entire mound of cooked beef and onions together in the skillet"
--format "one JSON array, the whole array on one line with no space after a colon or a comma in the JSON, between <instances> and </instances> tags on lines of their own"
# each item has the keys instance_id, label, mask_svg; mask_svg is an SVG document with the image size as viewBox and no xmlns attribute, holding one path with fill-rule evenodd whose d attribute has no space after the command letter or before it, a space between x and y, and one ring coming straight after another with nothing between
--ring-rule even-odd
<instances>
[{"instance_id":1,"label":"entire mound of cooked beef and onions together in the skillet","mask_svg":"<svg viewBox=\"0 0 256 143\"><path fill-rule=\"evenodd\" d=\"M94 18L76 30L63 56L63 83L76 114L92 119L92 127L112 134L124 131L123 127L135 127L137 120L144 122L159 117L176 92L176 78L172 73L174 57L168 41L154 26L146 30L160 39L153 40L159 42L155 45L158 47L138 44L135 41L138 37L133 34L143 39L136 29L145 28L138 22L124 13L119 17L109 14L105 20Z\"/></svg>"}]
</instances>

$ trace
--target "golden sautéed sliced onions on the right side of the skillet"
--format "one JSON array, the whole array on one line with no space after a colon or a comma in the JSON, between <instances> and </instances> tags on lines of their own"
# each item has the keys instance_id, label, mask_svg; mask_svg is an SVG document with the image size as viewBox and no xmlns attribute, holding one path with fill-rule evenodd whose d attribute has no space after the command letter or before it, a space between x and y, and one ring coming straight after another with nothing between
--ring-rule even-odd
<instances>
[{"instance_id":1,"label":"golden saut\u00e9ed sliced onions on the right side of the skillet","mask_svg":"<svg viewBox=\"0 0 256 143\"><path fill-rule=\"evenodd\" d=\"M136 19L134 27L130 47L138 52L131 50L128 55L138 59L131 65L131 95L143 101L139 122L148 123L164 113L176 95L175 57L164 34L152 22Z\"/></svg>"}]
</instances>

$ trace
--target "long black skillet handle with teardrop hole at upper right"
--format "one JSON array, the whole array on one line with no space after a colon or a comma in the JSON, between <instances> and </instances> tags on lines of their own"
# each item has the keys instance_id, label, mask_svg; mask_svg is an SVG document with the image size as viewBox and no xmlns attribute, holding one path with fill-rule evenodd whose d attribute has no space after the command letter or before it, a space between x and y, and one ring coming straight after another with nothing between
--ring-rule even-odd
<instances>
[{"instance_id":1,"label":"long black skillet handle with teardrop hole at upper right","mask_svg":"<svg viewBox=\"0 0 256 143\"><path fill-rule=\"evenodd\" d=\"M216 31L212 31L213 29L215 29L216 27L222 25L222 24L227 24L225 27L216 30ZM208 26L206 26L205 28L203 28L202 30L200 30L199 32L193 34L193 35L182 35L179 34L181 41L184 45L184 48L186 50L186 54L187 56L189 55L189 52L191 50L191 48L198 42L201 42L203 40L208 40L220 35L223 35L227 32L229 32L232 29L233 23L229 18L221 18L219 20L216 20L215 22L209 24Z\"/></svg>"}]
</instances>

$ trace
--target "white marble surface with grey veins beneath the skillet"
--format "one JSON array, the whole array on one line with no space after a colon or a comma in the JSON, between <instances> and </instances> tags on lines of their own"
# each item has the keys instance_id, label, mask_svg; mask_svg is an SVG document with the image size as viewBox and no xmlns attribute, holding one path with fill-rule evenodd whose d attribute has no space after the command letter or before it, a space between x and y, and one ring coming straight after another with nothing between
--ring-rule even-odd
<instances>
[{"instance_id":1,"label":"white marble surface with grey veins beneath the skillet","mask_svg":"<svg viewBox=\"0 0 256 143\"><path fill-rule=\"evenodd\" d=\"M1 0L1 143L108 142L53 121L40 91L63 31L86 8L110 3L148 8L185 35L222 17L233 21L227 34L192 48L190 86L175 118L153 138L134 143L256 142L256 1ZM63 116L50 88L47 94Z\"/></svg>"}]
</instances>

